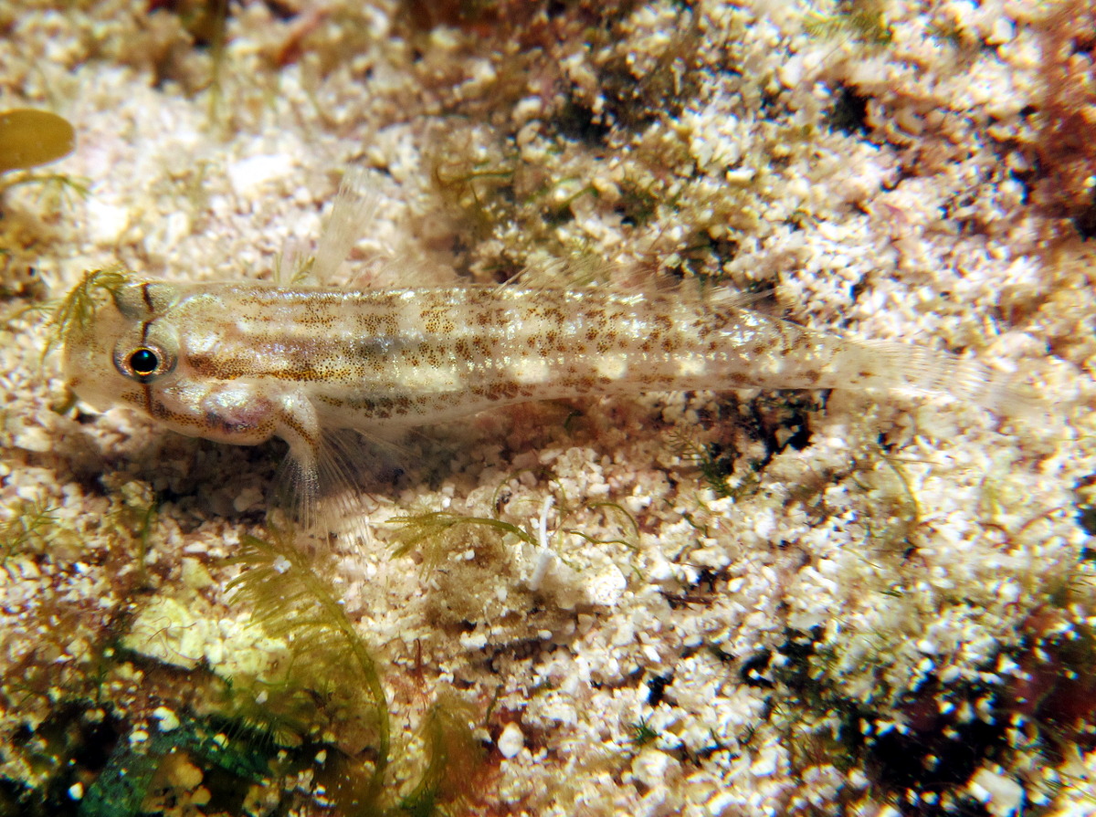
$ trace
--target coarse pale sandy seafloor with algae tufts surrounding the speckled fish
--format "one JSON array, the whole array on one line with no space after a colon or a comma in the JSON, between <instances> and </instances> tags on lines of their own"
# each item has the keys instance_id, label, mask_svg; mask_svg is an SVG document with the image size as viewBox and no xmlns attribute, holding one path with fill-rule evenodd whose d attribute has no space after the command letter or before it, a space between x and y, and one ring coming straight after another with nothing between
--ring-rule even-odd
<instances>
[{"instance_id":1,"label":"coarse pale sandy seafloor with algae tufts surrounding the speckled fish","mask_svg":"<svg viewBox=\"0 0 1096 817\"><path fill-rule=\"evenodd\" d=\"M69 119L37 173L88 189L3 194L4 306L113 264L269 279L358 168L381 204L343 283L566 257L1014 371L1049 419L754 391L433 429L378 457L372 541L326 586L389 699L389 806L442 700L482 747L445 814L1096 814L1092 160L1063 135L1096 104L1094 12L1066 5L233 2L215 59L201 3L3 2L0 108ZM317 781L374 757L362 694L313 681L284 745L244 741L250 778L193 738L247 734L226 680L261 711L307 661L225 592L282 447L66 408L47 337L30 314L0 340L0 810L106 813L129 769L116 814L338 813ZM436 564L393 556L389 520L434 510L533 542L468 526Z\"/></svg>"}]
</instances>

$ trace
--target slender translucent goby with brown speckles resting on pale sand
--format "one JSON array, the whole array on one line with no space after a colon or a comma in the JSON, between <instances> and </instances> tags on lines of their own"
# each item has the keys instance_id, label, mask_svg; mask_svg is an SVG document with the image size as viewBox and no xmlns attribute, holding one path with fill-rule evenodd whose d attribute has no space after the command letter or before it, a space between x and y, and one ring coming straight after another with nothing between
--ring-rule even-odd
<instances>
[{"instance_id":1,"label":"slender translucent goby with brown speckles resting on pale sand","mask_svg":"<svg viewBox=\"0 0 1096 817\"><path fill-rule=\"evenodd\" d=\"M1039 401L973 358L806 329L733 294L140 280L94 271L56 323L69 388L179 434L288 445L297 514L354 483L343 431L652 391L906 390L1002 415Z\"/></svg>"}]
</instances>

